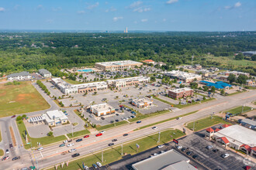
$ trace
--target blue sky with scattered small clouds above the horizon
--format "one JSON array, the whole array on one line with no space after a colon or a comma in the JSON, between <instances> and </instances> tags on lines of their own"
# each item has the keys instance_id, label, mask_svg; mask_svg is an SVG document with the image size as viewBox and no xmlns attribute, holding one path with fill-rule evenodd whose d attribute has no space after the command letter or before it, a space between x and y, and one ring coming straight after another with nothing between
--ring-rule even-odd
<instances>
[{"instance_id":1,"label":"blue sky with scattered small clouds above the horizon","mask_svg":"<svg viewBox=\"0 0 256 170\"><path fill-rule=\"evenodd\" d=\"M0 29L254 31L256 0L1 0Z\"/></svg>"}]
</instances>

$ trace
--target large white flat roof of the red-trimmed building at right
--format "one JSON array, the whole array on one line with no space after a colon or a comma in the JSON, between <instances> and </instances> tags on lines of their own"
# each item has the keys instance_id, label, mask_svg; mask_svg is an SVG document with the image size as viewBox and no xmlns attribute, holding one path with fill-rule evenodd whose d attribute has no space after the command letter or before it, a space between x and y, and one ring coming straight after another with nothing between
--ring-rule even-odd
<instances>
[{"instance_id":1,"label":"large white flat roof of the red-trimmed building at right","mask_svg":"<svg viewBox=\"0 0 256 170\"><path fill-rule=\"evenodd\" d=\"M223 128L216 132L216 135L219 137L227 137L228 140L232 143L239 142L251 147L256 146L256 131L244 128L239 124Z\"/></svg>"}]
</instances>

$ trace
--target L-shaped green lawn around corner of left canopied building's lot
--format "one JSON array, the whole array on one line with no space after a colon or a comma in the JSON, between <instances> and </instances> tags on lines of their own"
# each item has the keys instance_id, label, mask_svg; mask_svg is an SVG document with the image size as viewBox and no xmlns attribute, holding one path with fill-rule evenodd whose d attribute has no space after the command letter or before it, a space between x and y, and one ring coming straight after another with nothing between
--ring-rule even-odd
<instances>
[{"instance_id":1,"label":"L-shaped green lawn around corner of left canopied building's lot","mask_svg":"<svg viewBox=\"0 0 256 170\"><path fill-rule=\"evenodd\" d=\"M29 145L26 144L26 136L25 136L25 130L26 130L26 126L24 124L23 121L21 121L21 124L19 124L18 122L16 122L17 125L18 125L18 128L19 128L19 134L20 136L22 137L22 142L23 142L23 145L24 145L24 148L28 149L30 148L31 144L32 144L32 147L38 147L37 146L37 142L40 142L41 145L49 145L49 144L52 144L52 143L55 143L57 141L64 141L66 140L67 138L62 135L62 136L57 136L57 137L54 137L54 136L47 136L47 137L43 137L43 138L31 138L28 134L28 141L31 143Z\"/></svg>"}]
</instances>

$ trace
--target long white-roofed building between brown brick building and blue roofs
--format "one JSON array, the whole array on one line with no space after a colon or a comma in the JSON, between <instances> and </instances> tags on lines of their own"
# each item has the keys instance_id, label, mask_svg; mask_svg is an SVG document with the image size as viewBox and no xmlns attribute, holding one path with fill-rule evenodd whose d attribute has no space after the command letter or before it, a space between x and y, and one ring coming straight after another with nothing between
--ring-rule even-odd
<instances>
[{"instance_id":1,"label":"long white-roofed building between brown brick building and blue roofs","mask_svg":"<svg viewBox=\"0 0 256 170\"><path fill-rule=\"evenodd\" d=\"M182 80L185 83L192 82L193 80L202 80L202 76L194 73L187 73L179 70L172 70L170 72L165 72L164 75L170 76L171 78L176 78Z\"/></svg>"}]
</instances>

